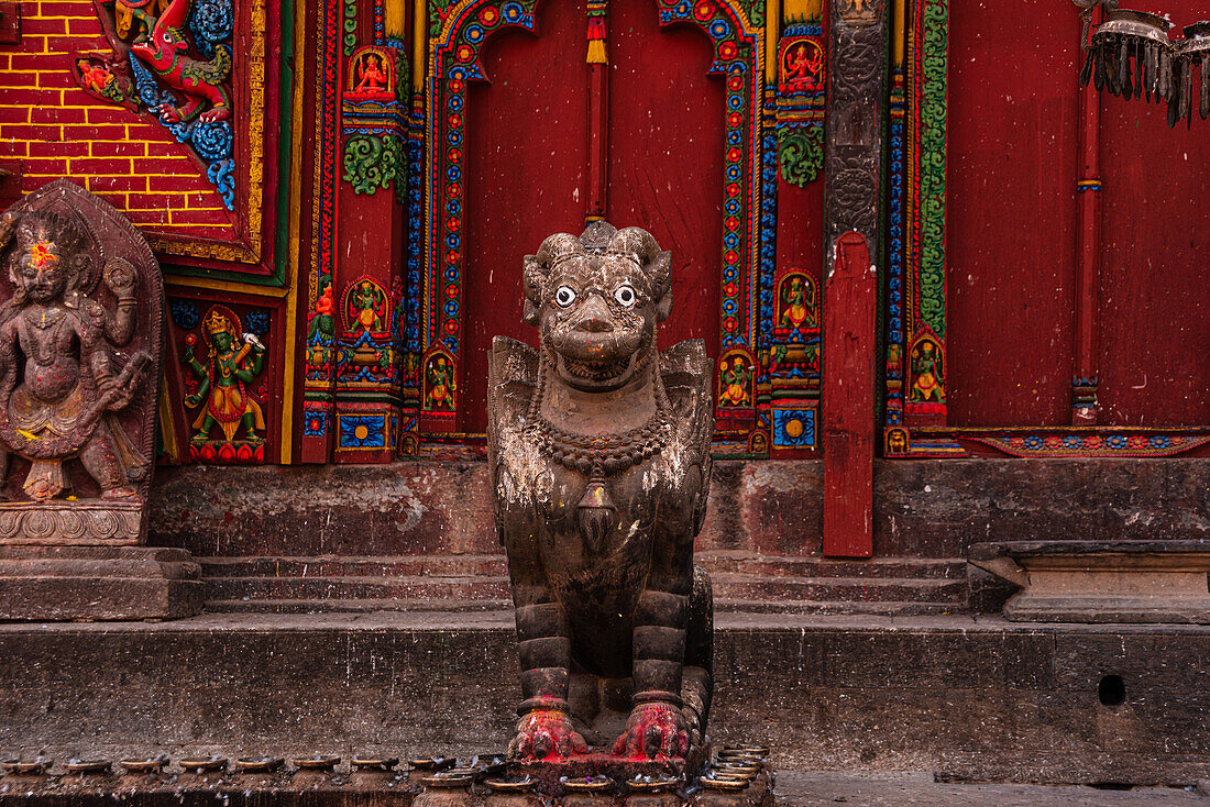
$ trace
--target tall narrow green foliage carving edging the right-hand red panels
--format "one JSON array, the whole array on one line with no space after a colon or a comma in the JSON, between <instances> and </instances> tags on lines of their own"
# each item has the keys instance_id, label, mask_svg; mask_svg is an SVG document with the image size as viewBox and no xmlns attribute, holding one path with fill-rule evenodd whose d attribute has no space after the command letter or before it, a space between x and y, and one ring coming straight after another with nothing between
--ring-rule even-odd
<instances>
[{"instance_id":1,"label":"tall narrow green foliage carving edging the right-hand red panels","mask_svg":"<svg viewBox=\"0 0 1210 807\"><path fill-rule=\"evenodd\" d=\"M945 339L945 144L950 0L926 0L921 50L920 318Z\"/></svg>"}]
</instances>

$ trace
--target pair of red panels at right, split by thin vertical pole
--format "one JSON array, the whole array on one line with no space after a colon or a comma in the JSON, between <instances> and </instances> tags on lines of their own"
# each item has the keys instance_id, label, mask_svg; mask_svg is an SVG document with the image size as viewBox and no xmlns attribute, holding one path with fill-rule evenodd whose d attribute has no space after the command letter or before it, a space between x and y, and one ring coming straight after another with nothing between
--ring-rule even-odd
<instances>
[{"instance_id":1,"label":"pair of red panels at right, split by thin vertical pole","mask_svg":"<svg viewBox=\"0 0 1210 807\"><path fill-rule=\"evenodd\" d=\"M1164 11L1187 25L1205 1ZM1078 22L996 4L950 12L950 425L1072 422L1082 192L1101 202L1085 313L1097 422L1210 425L1206 125L1170 129L1165 106L1101 93L1100 184L1079 190Z\"/></svg>"}]
</instances>

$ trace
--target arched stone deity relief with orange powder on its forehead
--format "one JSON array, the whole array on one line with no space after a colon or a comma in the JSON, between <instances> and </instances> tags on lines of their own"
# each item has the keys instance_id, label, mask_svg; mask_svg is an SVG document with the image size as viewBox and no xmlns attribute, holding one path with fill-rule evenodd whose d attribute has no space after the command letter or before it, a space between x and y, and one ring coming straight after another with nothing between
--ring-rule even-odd
<instances>
[{"instance_id":1,"label":"arched stone deity relief with orange powder on its forehead","mask_svg":"<svg viewBox=\"0 0 1210 807\"><path fill-rule=\"evenodd\" d=\"M11 284L0 298L0 474L17 500L0 505L0 541L34 530L134 543L154 462L155 259L113 208L67 180L0 218L0 255Z\"/></svg>"}]
</instances>

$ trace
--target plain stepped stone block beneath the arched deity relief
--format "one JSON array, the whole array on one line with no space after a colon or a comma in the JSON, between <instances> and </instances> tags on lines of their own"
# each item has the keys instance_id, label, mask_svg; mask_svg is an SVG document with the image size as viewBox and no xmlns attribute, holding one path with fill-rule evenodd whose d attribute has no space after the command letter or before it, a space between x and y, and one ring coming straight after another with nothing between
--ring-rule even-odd
<instances>
[{"instance_id":1,"label":"plain stepped stone block beneath the arched deity relief","mask_svg":"<svg viewBox=\"0 0 1210 807\"><path fill-rule=\"evenodd\" d=\"M175 619L201 612L184 549L0 546L0 619Z\"/></svg>"}]
</instances>

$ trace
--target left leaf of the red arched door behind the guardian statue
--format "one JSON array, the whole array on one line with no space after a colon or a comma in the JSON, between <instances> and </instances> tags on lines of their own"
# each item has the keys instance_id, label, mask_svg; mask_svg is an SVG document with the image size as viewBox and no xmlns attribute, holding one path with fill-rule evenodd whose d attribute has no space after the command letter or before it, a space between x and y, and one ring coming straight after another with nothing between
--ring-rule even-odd
<instances>
[{"instance_id":1,"label":"left leaf of the red arched door behind the guardian statue","mask_svg":"<svg viewBox=\"0 0 1210 807\"><path fill-rule=\"evenodd\" d=\"M587 96L583 0L540 4L538 35L484 46L486 82L469 87L466 138L466 321L460 431L486 430L488 348L534 342L522 322L522 258L584 221Z\"/></svg>"}]
</instances>

